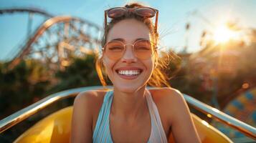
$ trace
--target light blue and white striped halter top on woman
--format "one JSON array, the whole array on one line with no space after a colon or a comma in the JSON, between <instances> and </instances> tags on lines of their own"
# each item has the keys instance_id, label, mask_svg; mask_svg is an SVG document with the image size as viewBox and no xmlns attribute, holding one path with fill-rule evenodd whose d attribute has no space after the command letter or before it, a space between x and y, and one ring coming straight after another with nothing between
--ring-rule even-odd
<instances>
[{"instance_id":1,"label":"light blue and white striped halter top on woman","mask_svg":"<svg viewBox=\"0 0 256 143\"><path fill-rule=\"evenodd\" d=\"M163 130L158 109L156 107L155 102L153 102L150 92L148 93L149 94L146 94L146 101L148 104L149 114L151 117L151 134L148 139L148 143L167 143L167 137ZM109 115L112 100L113 91L109 91L105 94L103 105L100 108L95 130L93 132L93 142L95 143L113 143L109 127Z\"/></svg>"}]
</instances>

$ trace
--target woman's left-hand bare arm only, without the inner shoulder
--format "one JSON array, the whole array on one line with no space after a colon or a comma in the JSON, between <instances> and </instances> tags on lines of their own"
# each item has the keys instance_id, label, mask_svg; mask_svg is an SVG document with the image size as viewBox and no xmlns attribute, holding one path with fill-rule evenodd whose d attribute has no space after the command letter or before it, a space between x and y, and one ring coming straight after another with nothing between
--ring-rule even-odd
<instances>
[{"instance_id":1,"label":"woman's left-hand bare arm only, without the inner shoulder","mask_svg":"<svg viewBox=\"0 0 256 143\"><path fill-rule=\"evenodd\" d=\"M70 142L93 142L91 105L94 94L94 92L83 92L75 98Z\"/></svg>"}]
</instances>

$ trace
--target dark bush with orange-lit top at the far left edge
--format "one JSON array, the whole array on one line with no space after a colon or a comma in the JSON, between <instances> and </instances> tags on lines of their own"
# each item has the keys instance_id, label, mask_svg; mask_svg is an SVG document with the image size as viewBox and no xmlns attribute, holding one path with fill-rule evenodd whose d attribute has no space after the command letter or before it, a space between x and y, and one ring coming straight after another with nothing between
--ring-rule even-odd
<instances>
[{"instance_id":1,"label":"dark bush with orange-lit top at the far left edge","mask_svg":"<svg viewBox=\"0 0 256 143\"><path fill-rule=\"evenodd\" d=\"M44 66L37 61L21 61L14 69L8 66L9 63L0 66L1 117L42 97L49 86L49 80L44 79Z\"/></svg>"}]
</instances>

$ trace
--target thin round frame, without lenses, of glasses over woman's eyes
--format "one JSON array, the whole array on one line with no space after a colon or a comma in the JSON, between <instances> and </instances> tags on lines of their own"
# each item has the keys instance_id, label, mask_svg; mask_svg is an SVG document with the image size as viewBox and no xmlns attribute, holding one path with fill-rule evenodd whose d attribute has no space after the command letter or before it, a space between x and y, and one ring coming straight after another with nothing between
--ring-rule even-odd
<instances>
[{"instance_id":1,"label":"thin round frame, without lenses, of glasses over woman's eyes","mask_svg":"<svg viewBox=\"0 0 256 143\"><path fill-rule=\"evenodd\" d=\"M133 49L133 54L136 56L136 58L138 58L138 59L140 59L140 57L138 57L138 55L136 54L136 52L135 52L135 50L134 50L134 45L137 43L137 42L139 42L139 41L148 41L150 44L151 44L151 49L152 49L152 53L151 53L151 56L150 57L152 57L153 56L153 54L155 54L155 52L156 52L156 48L153 48L152 46L152 43L151 43L151 41L149 41L148 39L140 39L140 40L138 40L138 41L134 41L132 44L125 44L123 41L119 41L119 40L112 40L112 41L118 41L118 42L120 42L121 44L123 44L123 53L122 53L122 56L123 56L123 54L125 54L125 51L126 51L126 49L127 49L127 45L131 45L132 46L132 49ZM106 50L106 46L107 46L107 44L108 43L110 43L110 42L112 42L112 41L108 41L105 45L104 45L104 47L102 48L102 50L103 50L103 52L105 53L105 50ZM122 56L120 56L120 58L122 58ZM119 58L119 59L120 59ZM111 58L110 58L111 59ZM113 59L113 60L118 60L118 59Z\"/></svg>"}]
</instances>

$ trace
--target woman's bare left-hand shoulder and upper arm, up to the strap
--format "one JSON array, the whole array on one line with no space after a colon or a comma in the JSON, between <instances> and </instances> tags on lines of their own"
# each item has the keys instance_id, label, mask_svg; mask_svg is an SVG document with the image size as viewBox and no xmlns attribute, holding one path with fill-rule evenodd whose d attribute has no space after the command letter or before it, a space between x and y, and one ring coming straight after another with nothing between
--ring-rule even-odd
<instances>
[{"instance_id":1,"label":"woman's bare left-hand shoulder and upper arm, up to the strap","mask_svg":"<svg viewBox=\"0 0 256 143\"><path fill-rule=\"evenodd\" d=\"M86 91L75 97L72 113L71 142L92 142L93 124L105 92Z\"/></svg>"}]
</instances>

